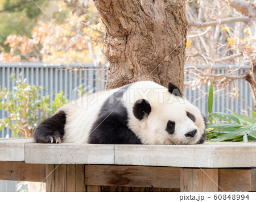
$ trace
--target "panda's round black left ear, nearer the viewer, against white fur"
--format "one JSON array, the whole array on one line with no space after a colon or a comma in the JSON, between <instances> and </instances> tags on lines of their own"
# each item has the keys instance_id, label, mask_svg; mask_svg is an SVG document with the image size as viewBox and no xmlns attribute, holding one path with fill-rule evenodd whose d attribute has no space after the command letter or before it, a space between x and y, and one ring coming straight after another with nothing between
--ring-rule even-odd
<instances>
[{"instance_id":1,"label":"panda's round black left ear, nearer the viewer, against white fur","mask_svg":"<svg viewBox=\"0 0 256 202\"><path fill-rule=\"evenodd\" d=\"M139 99L137 102L135 102L133 106L133 114L134 116L142 120L144 116L148 116L151 112L151 106L150 103L148 103L147 100Z\"/></svg>"}]
</instances>

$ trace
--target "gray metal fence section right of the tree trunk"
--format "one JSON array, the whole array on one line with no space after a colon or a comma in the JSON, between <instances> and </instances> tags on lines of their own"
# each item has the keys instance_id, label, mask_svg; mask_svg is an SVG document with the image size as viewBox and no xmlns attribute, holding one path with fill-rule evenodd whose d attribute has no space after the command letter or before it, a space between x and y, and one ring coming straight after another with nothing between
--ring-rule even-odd
<instances>
[{"instance_id":1,"label":"gray metal fence section right of the tree trunk","mask_svg":"<svg viewBox=\"0 0 256 202\"><path fill-rule=\"evenodd\" d=\"M199 68L204 68L200 66ZM236 65L213 65L214 73L225 75L228 71L236 69L236 75L241 75L247 71L247 66ZM185 76L185 80L187 77ZM234 89L236 88L236 90ZM191 86L187 86L184 92L185 97L195 106L207 114L209 86L201 85L198 89L192 90ZM248 107L254 109L253 97L250 92L248 82L245 79L235 80L230 85L217 89L213 87L214 100L212 112L224 112L225 109L233 110L237 113L242 113L242 110L249 111ZM238 92L237 94L235 92ZM237 97L238 95L238 97ZM225 111L227 112L227 111Z\"/></svg>"}]
</instances>

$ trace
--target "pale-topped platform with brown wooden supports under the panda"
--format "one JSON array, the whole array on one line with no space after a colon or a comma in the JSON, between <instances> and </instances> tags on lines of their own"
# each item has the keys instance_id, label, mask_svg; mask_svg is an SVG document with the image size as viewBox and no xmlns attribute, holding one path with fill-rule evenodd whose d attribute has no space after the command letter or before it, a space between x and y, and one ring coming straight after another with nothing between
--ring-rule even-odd
<instances>
[{"instance_id":1,"label":"pale-topped platform with brown wooden supports under the panda","mask_svg":"<svg viewBox=\"0 0 256 202\"><path fill-rule=\"evenodd\" d=\"M256 191L256 143L35 144L0 139L0 179L46 182L47 191L99 186Z\"/></svg>"}]
</instances>

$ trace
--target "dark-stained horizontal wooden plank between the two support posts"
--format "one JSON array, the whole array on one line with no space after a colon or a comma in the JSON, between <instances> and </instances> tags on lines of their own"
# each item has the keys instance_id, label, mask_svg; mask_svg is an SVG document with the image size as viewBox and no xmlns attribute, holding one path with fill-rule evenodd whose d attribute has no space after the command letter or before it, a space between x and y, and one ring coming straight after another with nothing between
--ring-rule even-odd
<instances>
[{"instance_id":1,"label":"dark-stained horizontal wooden plank between the two support posts","mask_svg":"<svg viewBox=\"0 0 256 202\"><path fill-rule=\"evenodd\" d=\"M85 184L179 188L180 168L85 165Z\"/></svg>"}]
</instances>

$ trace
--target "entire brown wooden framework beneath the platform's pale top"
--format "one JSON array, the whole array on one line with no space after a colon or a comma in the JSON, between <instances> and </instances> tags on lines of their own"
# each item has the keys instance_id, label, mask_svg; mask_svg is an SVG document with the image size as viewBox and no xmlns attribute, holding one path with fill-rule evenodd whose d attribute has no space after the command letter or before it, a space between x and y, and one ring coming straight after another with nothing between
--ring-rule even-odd
<instances>
[{"instance_id":1,"label":"entire brown wooden framework beneath the platform's pale top","mask_svg":"<svg viewBox=\"0 0 256 202\"><path fill-rule=\"evenodd\" d=\"M189 190L216 191L217 182L220 191L256 191L256 170L217 170L218 175L216 169L202 171L179 167L71 164L57 167L57 165L1 161L0 179L46 182L47 191L100 191L99 186L181 188L181 190L188 187ZM188 179L191 178L196 183L189 184L191 182Z\"/></svg>"}]
</instances>

